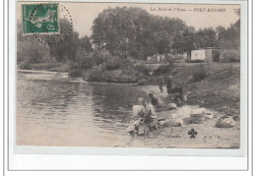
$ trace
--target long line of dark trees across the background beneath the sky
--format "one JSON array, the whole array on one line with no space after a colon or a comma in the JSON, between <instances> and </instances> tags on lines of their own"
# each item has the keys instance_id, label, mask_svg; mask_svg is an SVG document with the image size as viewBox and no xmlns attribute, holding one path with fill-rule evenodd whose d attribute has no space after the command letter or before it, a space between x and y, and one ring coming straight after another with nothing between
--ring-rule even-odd
<instances>
[{"instance_id":1,"label":"long line of dark trees across the background beneath the sky","mask_svg":"<svg viewBox=\"0 0 256 176\"><path fill-rule=\"evenodd\" d=\"M236 13L239 16L239 12ZM60 24L61 32L71 28L68 36L61 40L56 35L48 35L44 38L46 44L38 43L34 36L23 36L21 24L18 24L18 63L28 60L49 62L49 59L76 62L78 58L90 55L97 59L101 51L121 59L145 60L155 54L187 52L189 55L191 50L205 47L239 49L240 44L240 20L227 29L196 30L178 18L154 16L136 7L103 10L94 21L91 36L79 37L65 19L61 19ZM92 62L92 65L98 65L96 61Z\"/></svg>"}]
</instances>

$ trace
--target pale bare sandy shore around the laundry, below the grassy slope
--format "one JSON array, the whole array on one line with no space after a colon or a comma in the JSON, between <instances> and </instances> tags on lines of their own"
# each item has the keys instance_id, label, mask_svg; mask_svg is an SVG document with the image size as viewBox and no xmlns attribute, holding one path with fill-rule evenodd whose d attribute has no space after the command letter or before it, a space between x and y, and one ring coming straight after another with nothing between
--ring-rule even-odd
<instances>
[{"instance_id":1,"label":"pale bare sandy shore around the laundry, below the grassy slope","mask_svg":"<svg viewBox=\"0 0 256 176\"><path fill-rule=\"evenodd\" d=\"M155 93L161 98L166 98L167 92L164 91L160 93L160 89L157 86L144 86L140 87L147 93ZM165 90L165 89L164 89ZM188 95L188 98L191 96ZM202 95L199 94L199 97ZM198 99L200 100L200 99ZM191 100L190 100L191 102ZM186 120L190 117L190 111L195 108L206 106L201 104L184 105L179 107L176 110L168 110L168 111L159 111L157 112L159 119L182 119L182 122L186 122ZM230 109L231 107L228 107ZM157 144L155 147L218 147L218 148L239 148L240 146L240 122L236 120L234 126L231 128L217 128L215 125L220 117L226 114L229 111L218 111L219 108L207 108L207 112L211 112L214 114L214 118L203 121L202 123L191 123L186 124L183 123L180 127L163 127L155 132L150 133L147 139L148 143ZM234 114L232 114L234 115ZM239 114L235 114L239 115ZM195 129L197 131L197 136L195 139L191 139L188 135L188 132L191 129ZM154 142L150 142L153 140ZM146 140L147 143L147 140Z\"/></svg>"}]
</instances>

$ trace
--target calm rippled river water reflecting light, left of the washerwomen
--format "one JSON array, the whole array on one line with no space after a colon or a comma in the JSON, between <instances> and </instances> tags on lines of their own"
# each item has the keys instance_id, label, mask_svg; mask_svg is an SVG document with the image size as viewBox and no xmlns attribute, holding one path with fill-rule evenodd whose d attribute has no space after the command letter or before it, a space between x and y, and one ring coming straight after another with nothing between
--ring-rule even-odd
<instances>
[{"instance_id":1,"label":"calm rippled river water reflecting light, left of the washerwomen","mask_svg":"<svg viewBox=\"0 0 256 176\"><path fill-rule=\"evenodd\" d=\"M52 74L17 74L17 145L143 147L126 134L136 86L76 83Z\"/></svg>"}]
</instances>

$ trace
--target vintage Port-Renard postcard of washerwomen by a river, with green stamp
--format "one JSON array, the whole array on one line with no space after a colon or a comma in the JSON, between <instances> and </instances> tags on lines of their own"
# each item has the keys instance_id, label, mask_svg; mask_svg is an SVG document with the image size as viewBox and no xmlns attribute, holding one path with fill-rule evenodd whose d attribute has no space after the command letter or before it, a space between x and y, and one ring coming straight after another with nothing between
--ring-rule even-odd
<instances>
[{"instance_id":1,"label":"vintage Port-Renard postcard of washerwomen by a river, with green stamp","mask_svg":"<svg viewBox=\"0 0 256 176\"><path fill-rule=\"evenodd\" d=\"M244 13L18 1L16 146L240 149Z\"/></svg>"}]
</instances>

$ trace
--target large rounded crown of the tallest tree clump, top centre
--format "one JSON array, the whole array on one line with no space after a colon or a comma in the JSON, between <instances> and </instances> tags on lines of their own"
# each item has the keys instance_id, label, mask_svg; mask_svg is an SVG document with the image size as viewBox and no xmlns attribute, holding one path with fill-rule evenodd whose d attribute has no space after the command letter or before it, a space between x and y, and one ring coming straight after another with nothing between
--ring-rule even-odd
<instances>
[{"instance_id":1,"label":"large rounded crown of the tallest tree clump, top centre","mask_svg":"<svg viewBox=\"0 0 256 176\"><path fill-rule=\"evenodd\" d=\"M146 59L169 52L172 38L185 27L180 19L153 16L141 8L108 8L96 18L92 39L113 56Z\"/></svg>"}]
</instances>

